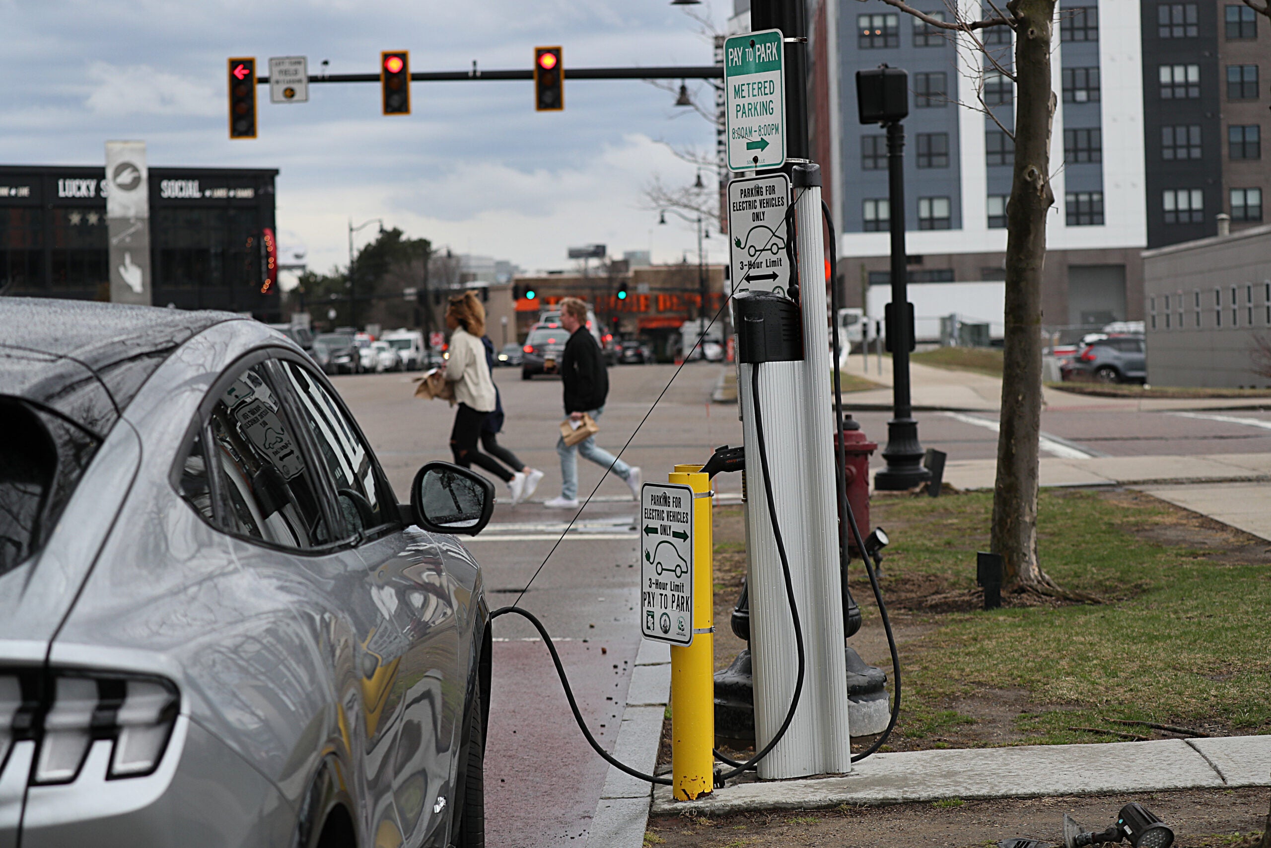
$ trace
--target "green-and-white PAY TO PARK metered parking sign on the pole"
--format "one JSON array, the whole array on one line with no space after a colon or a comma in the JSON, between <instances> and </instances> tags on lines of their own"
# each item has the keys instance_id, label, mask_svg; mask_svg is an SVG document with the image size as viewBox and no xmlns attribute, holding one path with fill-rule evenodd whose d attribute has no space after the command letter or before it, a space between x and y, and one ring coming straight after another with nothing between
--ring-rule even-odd
<instances>
[{"instance_id":1,"label":"green-and-white PAY TO PARK metered parking sign on the pole","mask_svg":"<svg viewBox=\"0 0 1271 848\"><path fill-rule=\"evenodd\" d=\"M785 42L780 29L733 36L723 43L728 169L785 164Z\"/></svg>"}]
</instances>

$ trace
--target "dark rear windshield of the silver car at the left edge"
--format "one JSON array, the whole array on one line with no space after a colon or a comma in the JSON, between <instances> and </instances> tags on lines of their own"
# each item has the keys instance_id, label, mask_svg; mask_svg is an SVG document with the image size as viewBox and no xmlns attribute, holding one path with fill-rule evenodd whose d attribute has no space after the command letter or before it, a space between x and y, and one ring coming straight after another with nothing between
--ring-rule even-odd
<instances>
[{"instance_id":1,"label":"dark rear windshield of the silver car at the left edge","mask_svg":"<svg viewBox=\"0 0 1271 848\"><path fill-rule=\"evenodd\" d=\"M0 398L0 575L39 553L98 441L14 398Z\"/></svg>"}]
</instances>

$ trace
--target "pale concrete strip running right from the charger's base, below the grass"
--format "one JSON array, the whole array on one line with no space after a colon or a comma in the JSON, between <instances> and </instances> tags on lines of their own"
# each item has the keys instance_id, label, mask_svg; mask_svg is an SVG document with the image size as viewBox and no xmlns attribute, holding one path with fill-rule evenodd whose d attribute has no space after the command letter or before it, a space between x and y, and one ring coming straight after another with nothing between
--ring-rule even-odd
<instances>
[{"instance_id":1,"label":"pale concrete strip running right from the charger's base, below the grass","mask_svg":"<svg viewBox=\"0 0 1271 848\"><path fill-rule=\"evenodd\" d=\"M939 798L1271 786L1271 735L874 754L850 774L737 783L697 801L653 790L653 815L815 810Z\"/></svg>"}]
</instances>

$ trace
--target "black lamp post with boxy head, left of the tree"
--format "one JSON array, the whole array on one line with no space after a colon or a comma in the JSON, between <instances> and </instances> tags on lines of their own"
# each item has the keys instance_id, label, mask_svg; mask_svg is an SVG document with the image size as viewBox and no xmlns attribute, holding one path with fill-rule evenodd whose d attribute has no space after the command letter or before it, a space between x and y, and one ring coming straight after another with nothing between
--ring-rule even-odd
<instances>
[{"instance_id":1,"label":"black lamp post with boxy head, left of the tree","mask_svg":"<svg viewBox=\"0 0 1271 848\"><path fill-rule=\"evenodd\" d=\"M874 488L904 491L930 479L923 468L923 445L909 390L909 348L913 306L905 275L905 128L909 114L909 74L899 67L880 65L857 71L857 106L860 123L887 127L887 209L891 231L891 309L887 320L887 347L891 348L892 418L887 422L887 446L882 451L887 467L874 474Z\"/></svg>"}]
</instances>

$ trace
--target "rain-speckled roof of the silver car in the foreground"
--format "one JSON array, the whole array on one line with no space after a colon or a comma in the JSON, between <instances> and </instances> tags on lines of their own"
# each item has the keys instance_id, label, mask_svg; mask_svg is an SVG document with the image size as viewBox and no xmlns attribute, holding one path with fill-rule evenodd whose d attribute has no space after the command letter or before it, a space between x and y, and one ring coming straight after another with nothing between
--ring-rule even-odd
<instances>
[{"instance_id":1,"label":"rain-speckled roof of the silver car in the foreground","mask_svg":"<svg viewBox=\"0 0 1271 848\"><path fill-rule=\"evenodd\" d=\"M0 297L0 394L104 437L146 379L226 311L52 297Z\"/></svg>"}]
</instances>

